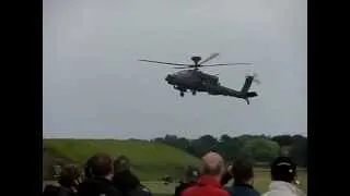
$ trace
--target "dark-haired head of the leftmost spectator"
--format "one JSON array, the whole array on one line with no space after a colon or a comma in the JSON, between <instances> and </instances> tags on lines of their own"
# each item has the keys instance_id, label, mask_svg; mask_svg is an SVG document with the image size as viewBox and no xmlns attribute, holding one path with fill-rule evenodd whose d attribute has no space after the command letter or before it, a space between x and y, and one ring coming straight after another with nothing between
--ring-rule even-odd
<instances>
[{"instance_id":1,"label":"dark-haired head of the leftmost spectator","mask_svg":"<svg viewBox=\"0 0 350 196\"><path fill-rule=\"evenodd\" d=\"M81 182L81 171L73 164L63 166L58 183L65 187L77 186Z\"/></svg>"}]
</instances>

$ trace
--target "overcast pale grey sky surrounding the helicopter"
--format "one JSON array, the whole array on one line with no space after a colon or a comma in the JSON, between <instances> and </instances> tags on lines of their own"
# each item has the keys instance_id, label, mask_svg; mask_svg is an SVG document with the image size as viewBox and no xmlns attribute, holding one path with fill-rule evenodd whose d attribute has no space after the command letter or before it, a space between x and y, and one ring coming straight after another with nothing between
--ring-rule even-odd
<instances>
[{"instance_id":1,"label":"overcast pale grey sky surrounding the helicopter","mask_svg":"<svg viewBox=\"0 0 350 196\"><path fill-rule=\"evenodd\" d=\"M44 0L44 137L152 138L165 134L306 134L305 0ZM220 56L220 83L241 88L258 73L247 106L233 97L179 93L176 70L138 62Z\"/></svg>"}]
</instances>

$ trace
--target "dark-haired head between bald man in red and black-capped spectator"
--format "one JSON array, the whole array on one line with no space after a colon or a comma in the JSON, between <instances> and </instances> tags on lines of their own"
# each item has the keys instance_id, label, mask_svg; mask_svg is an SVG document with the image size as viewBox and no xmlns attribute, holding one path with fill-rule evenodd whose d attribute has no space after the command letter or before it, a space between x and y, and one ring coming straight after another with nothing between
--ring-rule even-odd
<instances>
[{"instance_id":1,"label":"dark-haired head between bald man in red and black-capped spectator","mask_svg":"<svg viewBox=\"0 0 350 196\"><path fill-rule=\"evenodd\" d=\"M234 184L253 184L253 164L246 160L236 160L231 169Z\"/></svg>"}]
</instances>

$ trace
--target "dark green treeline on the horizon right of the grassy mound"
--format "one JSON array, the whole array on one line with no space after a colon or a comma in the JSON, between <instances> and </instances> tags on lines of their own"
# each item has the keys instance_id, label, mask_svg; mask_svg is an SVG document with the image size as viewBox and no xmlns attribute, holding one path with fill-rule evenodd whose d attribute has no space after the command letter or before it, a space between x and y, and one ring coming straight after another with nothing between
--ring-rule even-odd
<instances>
[{"instance_id":1,"label":"dark green treeline on the horizon right of the grassy mound","mask_svg":"<svg viewBox=\"0 0 350 196\"><path fill-rule=\"evenodd\" d=\"M222 135L215 138L203 135L197 139L187 139L176 135L158 137L152 142L167 144L195 157L201 157L208 150L220 152L225 160L237 158L249 159L256 164L267 164L279 155L287 155L299 166L307 167L307 137L302 135L242 135L230 137Z\"/></svg>"}]
</instances>

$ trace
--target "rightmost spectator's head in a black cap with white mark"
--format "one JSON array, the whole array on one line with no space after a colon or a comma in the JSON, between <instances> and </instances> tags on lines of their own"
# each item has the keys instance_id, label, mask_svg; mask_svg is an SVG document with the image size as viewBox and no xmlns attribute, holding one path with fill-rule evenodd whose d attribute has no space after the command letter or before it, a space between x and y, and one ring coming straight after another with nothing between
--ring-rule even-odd
<instances>
[{"instance_id":1,"label":"rightmost spectator's head in a black cap with white mark","mask_svg":"<svg viewBox=\"0 0 350 196\"><path fill-rule=\"evenodd\" d=\"M296 179L296 164L288 157L278 157L271 163L271 180L293 183Z\"/></svg>"}]
</instances>

